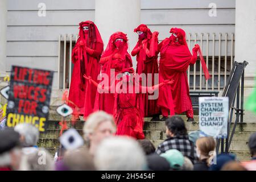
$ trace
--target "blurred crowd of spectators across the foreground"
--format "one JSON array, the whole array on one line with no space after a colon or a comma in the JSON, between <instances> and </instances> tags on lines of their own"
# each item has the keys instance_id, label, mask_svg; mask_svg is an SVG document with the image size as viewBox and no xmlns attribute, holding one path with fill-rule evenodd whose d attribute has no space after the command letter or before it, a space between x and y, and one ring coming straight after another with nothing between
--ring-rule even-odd
<instances>
[{"instance_id":1,"label":"blurred crowd of spectators across the foreground","mask_svg":"<svg viewBox=\"0 0 256 182\"><path fill-rule=\"evenodd\" d=\"M39 131L28 123L0 130L0 170L76 171L249 171L256 170L256 133L249 138L251 160L240 162L233 154L216 155L212 137L191 138L183 119L166 121L167 139L155 148L150 140L115 135L114 118L104 111L89 115L83 127L84 146L57 154L36 146ZM67 132L67 131L65 131Z\"/></svg>"}]
</instances>

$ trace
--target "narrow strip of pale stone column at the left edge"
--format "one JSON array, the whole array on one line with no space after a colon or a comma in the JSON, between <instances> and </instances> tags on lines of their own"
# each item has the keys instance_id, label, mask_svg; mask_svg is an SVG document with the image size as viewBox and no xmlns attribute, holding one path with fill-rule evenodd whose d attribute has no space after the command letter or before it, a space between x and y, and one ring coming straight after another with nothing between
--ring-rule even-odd
<instances>
[{"instance_id":1,"label":"narrow strip of pale stone column at the left edge","mask_svg":"<svg viewBox=\"0 0 256 182\"><path fill-rule=\"evenodd\" d=\"M0 1L0 77L6 76L7 0Z\"/></svg>"}]
</instances>

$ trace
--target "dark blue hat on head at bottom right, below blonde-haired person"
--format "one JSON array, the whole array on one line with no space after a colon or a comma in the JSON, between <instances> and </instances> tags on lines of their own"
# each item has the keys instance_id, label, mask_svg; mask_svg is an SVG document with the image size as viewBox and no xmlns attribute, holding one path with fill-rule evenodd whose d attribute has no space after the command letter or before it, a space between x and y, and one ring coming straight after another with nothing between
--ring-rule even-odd
<instances>
[{"instance_id":1,"label":"dark blue hat on head at bottom right, below blonde-haired person","mask_svg":"<svg viewBox=\"0 0 256 182\"><path fill-rule=\"evenodd\" d=\"M236 160L236 156L232 154L219 154L216 156L216 163L210 165L210 171L220 171L221 168L228 162Z\"/></svg>"}]
</instances>

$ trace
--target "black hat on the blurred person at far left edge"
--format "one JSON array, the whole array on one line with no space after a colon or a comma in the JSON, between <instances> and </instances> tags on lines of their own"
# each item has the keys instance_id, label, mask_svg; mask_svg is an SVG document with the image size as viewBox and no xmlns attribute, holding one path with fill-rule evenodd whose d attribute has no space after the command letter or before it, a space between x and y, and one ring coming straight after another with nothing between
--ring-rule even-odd
<instances>
[{"instance_id":1,"label":"black hat on the blurred person at far left edge","mask_svg":"<svg viewBox=\"0 0 256 182\"><path fill-rule=\"evenodd\" d=\"M19 144L19 133L9 128L0 131L0 154L10 151Z\"/></svg>"}]
</instances>

